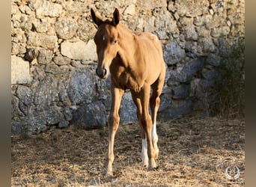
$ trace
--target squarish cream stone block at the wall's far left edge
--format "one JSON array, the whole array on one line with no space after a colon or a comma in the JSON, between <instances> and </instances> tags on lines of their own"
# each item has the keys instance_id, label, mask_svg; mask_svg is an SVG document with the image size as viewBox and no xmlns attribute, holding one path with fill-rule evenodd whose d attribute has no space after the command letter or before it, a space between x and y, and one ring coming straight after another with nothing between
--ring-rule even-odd
<instances>
[{"instance_id":1,"label":"squarish cream stone block at the wall's far left edge","mask_svg":"<svg viewBox=\"0 0 256 187\"><path fill-rule=\"evenodd\" d=\"M32 80L29 73L29 62L22 58L11 56L11 84L28 84Z\"/></svg>"}]
</instances>

